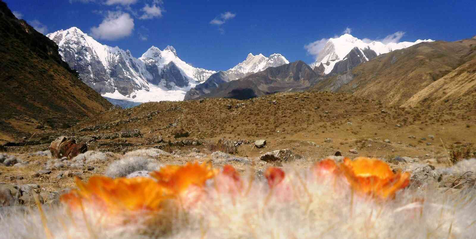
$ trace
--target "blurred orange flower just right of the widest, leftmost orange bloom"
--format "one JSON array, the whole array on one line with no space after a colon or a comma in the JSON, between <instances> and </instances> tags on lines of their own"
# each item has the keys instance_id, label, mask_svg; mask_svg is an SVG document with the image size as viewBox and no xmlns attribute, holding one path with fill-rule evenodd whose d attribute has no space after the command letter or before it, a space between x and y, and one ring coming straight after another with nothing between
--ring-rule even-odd
<instances>
[{"instance_id":1,"label":"blurred orange flower just right of the widest, leftmost orange bloom","mask_svg":"<svg viewBox=\"0 0 476 239\"><path fill-rule=\"evenodd\" d=\"M158 172L150 175L159 181L159 184L176 194L182 193L189 186L203 187L208 179L217 174L211 163L187 163L184 166L167 165Z\"/></svg>"}]
</instances>

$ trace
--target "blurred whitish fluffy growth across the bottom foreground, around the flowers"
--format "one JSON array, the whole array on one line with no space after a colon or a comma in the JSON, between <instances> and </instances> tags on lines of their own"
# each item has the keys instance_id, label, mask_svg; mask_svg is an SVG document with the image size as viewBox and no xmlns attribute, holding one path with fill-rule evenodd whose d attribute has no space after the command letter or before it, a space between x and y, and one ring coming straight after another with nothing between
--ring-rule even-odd
<instances>
[{"instance_id":1,"label":"blurred whitish fluffy growth across the bottom foreground, around the flowers","mask_svg":"<svg viewBox=\"0 0 476 239\"><path fill-rule=\"evenodd\" d=\"M446 239L476 235L475 189L450 194L427 185L380 202L353 195L343 181L319 182L309 172L288 170L285 184L273 191L267 182L248 178L243 177L245 190L238 196L217 193L209 185L205 198L184 217L167 213L168 218L177 216L169 224L114 223L88 207L87 220L80 213L73 222L60 207L46 212L47 225L54 238ZM164 227L165 232L160 230ZM0 234L3 238L46 238L38 212L13 213L0 220L0 231L5 232Z\"/></svg>"}]
</instances>

